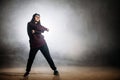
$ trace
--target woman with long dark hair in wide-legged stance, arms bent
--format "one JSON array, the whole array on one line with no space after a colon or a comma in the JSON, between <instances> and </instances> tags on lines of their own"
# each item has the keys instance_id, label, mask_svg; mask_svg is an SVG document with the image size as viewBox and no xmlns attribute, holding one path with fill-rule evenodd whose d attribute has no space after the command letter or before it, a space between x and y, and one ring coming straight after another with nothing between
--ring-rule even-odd
<instances>
[{"instance_id":1,"label":"woman with long dark hair in wide-legged stance, arms bent","mask_svg":"<svg viewBox=\"0 0 120 80\"><path fill-rule=\"evenodd\" d=\"M29 72L31 70L31 66L33 64L33 60L35 58L35 55L38 50L41 51L43 56L46 58L47 62L49 63L52 70L54 70L54 75L58 75L59 72L57 71L57 68L50 56L48 46L46 44L46 41L44 40L44 36L41 34L44 31L49 31L48 28L45 28L40 23L40 15L35 13L32 17L32 20L27 25L27 32L29 36L29 42L30 42L30 52L29 52L29 58L26 66L26 72L24 74L24 77L29 75Z\"/></svg>"}]
</instances>

